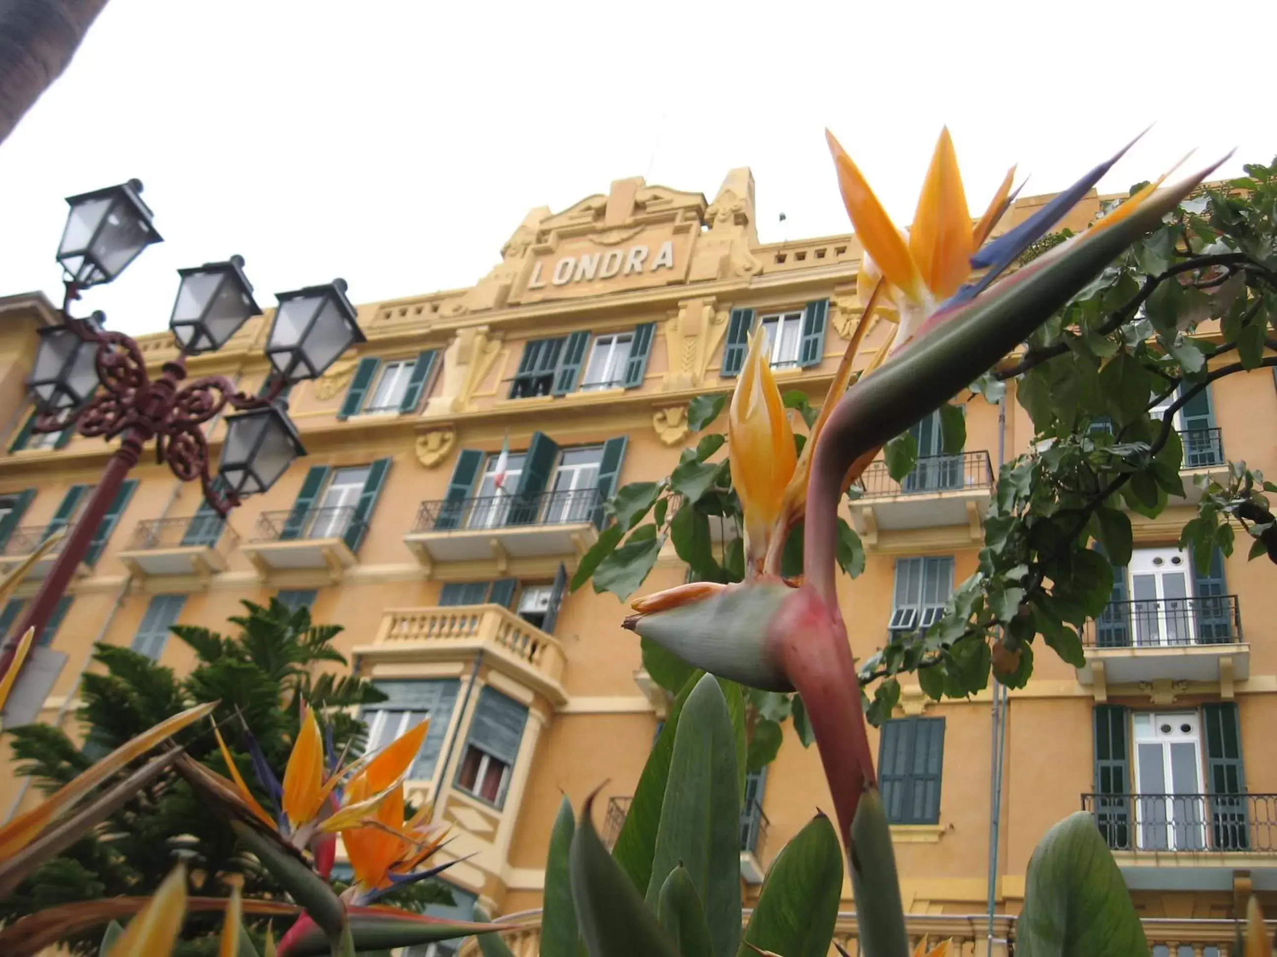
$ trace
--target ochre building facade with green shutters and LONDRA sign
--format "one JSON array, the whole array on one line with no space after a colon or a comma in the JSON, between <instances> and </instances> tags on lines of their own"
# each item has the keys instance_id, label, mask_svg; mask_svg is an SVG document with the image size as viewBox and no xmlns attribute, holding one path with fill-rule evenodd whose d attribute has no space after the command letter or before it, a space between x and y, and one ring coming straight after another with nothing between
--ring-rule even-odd
<instances>
[{"instance_id":1,"label":"ochre building facade with green shutters and LONDRA sign","mask_svg":"<svg viewBox=\"0 0 1277 957\"><path fill-rule=\"evenodd\" d=\"M1002 228L1039 202L1016 203ZM1068 225L1083 228L1097 203ZM310 605L317 621L345 625L342 651L389 695L365 713L374 743L430 716L410 798L435 801L456 832L444 856L467 857L447 873L458 906L478 900L520 915L533 929L510 943L536 953L561 795L580 806L601 785L595 824L614 833L669 706L642 670L637 638L619 627L621 602L590 588L566 593L564 578L596 540L601 499L677 464L688 402L732 389L751 329L771 337L782 389L824 397L859 322L858 263L850 235L761 244L743 168L711 203L631 179L564 212L534 209L474 286L359 308L366 343L289 396L308 456L225 526L200 508L198 484L143 457L19 693L42 702L41 721L70 725L94 642L181 672L192 655L169 625L225 629L244 598ZM257 390L269 318L193 359L192 373ZM8 565L50 527L75 521L111 452L100 439L29 431L23 380L36 330L55 320L42 296L0 300ZM861 361L879 342L871 337ZM169 333L140 345L156 370L175 355ZM940 454L939 427L923 422L914 472L896 484L876 463L865 495L844 503L867 553L865 573L840 583L858 657L891 628L925 625L974 570L1000 450L1011 458L1033 441L1014 383L999 412L979 397L967 403L956 457ZM1277 393L1266 370L1217 382L1177 426L1186 473L1220 470L1226 457L1277 473ZM215 456L223 434L222 422L208 430ZM1087 666L1043 651L1029 685L1010 694L999 914L1018 911L1043 832L1082 808L1097 814L1158 954L1218 953L1237 901L1277 889L1272 569L1239 554L1199 574L1175 546L1191 513L1180 501L1157 521L1134 517L1135 555L1110 611L1088 624ZM644 591L684 575L667 544ZM34 587L0 609L0 625L11 628ZM935 703L907 679L895 718L871 738L911 929L954 934L983 953L990 693ZM32 790L3 776L0 813L29 803ZM817 754L790 723L748 794L747 905L779 849L831 806ZM839 939L854 952L849 886L843 911ZM1006 937L1005 917L996 926Z\"/></svg>"}]
</instances>

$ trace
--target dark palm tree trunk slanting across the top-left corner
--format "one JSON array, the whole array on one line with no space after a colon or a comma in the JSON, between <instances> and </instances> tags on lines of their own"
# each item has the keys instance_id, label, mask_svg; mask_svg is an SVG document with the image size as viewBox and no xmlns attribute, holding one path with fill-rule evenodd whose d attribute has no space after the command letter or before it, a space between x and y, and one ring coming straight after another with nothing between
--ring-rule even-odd
<instances>
[{"instance_id":1,"label":"dark palm tree trunk slanting across the top-left corner","mask_svg":"<svg viewBox=\"0 0 1277 957\"><path fill-rule=\"evenodd\" d=\"M106 0L0 0L0 143L57 79Z\"/></svg>"}]
</instances>

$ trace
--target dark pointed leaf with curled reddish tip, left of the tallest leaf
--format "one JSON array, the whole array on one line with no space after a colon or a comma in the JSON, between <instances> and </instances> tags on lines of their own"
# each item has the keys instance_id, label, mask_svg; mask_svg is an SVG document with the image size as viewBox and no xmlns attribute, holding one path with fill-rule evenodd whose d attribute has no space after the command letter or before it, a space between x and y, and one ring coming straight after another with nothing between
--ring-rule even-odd
<instances>
[{"instance_id":1,"label":"dark pointed leaf with curled reddish tip, left of the tallest leaf","mask_svg":"<svg viewBox=\"0 0 1277 957\"><path fill-rule=\"evenodd\" d=\"M610 856L590 819L591 795L572 836L572 900L590 957L679 957L669 934ZM739 921L739 917L737 917Z\"/></svg>"}]
</instances>

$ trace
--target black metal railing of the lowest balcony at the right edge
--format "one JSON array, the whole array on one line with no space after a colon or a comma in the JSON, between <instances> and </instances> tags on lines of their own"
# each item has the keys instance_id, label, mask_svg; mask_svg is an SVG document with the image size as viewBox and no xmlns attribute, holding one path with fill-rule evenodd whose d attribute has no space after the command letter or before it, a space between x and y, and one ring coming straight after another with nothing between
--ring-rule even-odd
<instances>
[{"instance_id":1,"label":"black metal railing of the lowest balcony at the right edge","mask_svg":"<svg viewBox=\"0 0 1277 957\"><path fill-rule=\"evenodd\" d=\"M1084 794L1115 851L1277 851L1277 794Z\"/></svg>"}]
</instances>

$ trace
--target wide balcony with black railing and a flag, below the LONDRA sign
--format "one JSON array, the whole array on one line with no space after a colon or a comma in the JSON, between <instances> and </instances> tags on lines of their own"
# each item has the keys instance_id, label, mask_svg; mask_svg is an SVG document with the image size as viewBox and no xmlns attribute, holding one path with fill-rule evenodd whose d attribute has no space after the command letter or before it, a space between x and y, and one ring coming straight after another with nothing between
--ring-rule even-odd
<instances>
[{"instance_id":1,"label":"wide balcony with black railing and a flag, below the LONDRA sign","mask_svg":"<svg viewBox=\"0 0 1277 957\"><path fill-rule=\"evenodd\" d=\"M404 536L429 575L535 574L598 540L598 489L423 501Z\"/></svg>"}]
</instances>

